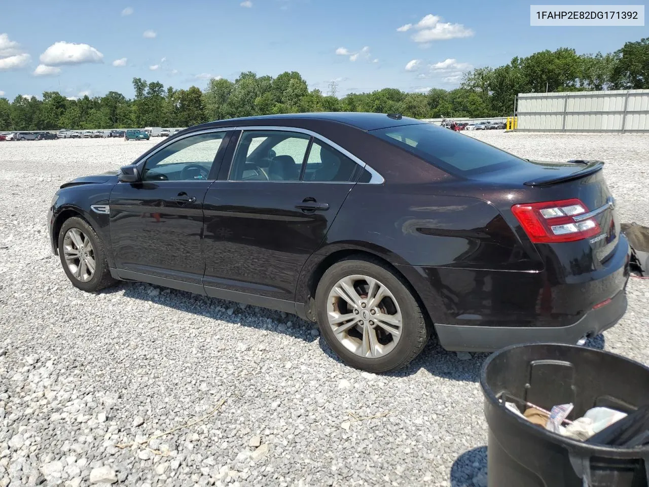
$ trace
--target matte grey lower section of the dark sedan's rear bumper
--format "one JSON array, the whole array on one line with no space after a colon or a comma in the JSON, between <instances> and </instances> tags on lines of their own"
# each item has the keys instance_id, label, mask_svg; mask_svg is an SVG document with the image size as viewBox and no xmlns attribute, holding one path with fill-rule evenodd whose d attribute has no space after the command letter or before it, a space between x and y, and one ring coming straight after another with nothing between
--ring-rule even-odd
<instances>
[{"instance_id":1,"label":"matte grey lower section of the dark sedan's rear bumper","mask_svg":"<svg viewBox=\"0 0 649 487\"><path fill-rule=\"evenodd\" d=\"M606 306L587 312L567 327L435 325L435 331L439 343L450 351L491 352L516 343L574 344L583 336L595 336L611 328L624 316L626 306L626 289L623 289Z\"/></svg>"}]
</instances>

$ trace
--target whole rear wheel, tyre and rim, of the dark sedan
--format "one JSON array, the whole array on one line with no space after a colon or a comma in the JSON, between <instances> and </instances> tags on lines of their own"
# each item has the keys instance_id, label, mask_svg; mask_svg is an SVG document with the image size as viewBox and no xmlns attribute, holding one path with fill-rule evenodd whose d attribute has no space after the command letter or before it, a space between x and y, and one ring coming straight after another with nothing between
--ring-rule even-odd
<instances>
[{"instance_id":1,"label":"whole rear wheel, tyre and rim, of the dark sedan","mask_svg":"<svg viewBox=\"0 0 649 487\"><path fill-rule=\"evenodd\" d=\"M327 269L315 293L321 334L346 364L370 372L408 365L428 328L406 283L372 259Z\"/></svg>"}]
</instances>

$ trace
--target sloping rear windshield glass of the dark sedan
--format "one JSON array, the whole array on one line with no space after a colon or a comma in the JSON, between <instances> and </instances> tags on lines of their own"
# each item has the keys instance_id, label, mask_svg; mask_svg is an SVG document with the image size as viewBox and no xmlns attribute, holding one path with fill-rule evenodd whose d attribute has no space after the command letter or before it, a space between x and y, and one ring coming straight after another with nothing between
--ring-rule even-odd
<instances>
[{"instance_id":1,"label":"sloping rear windshield glass of the dark sedan","mask_svg":"<svg viewBox=\"0 0 649 487\"><path fill-rule=\"evenodd\" d=\"M524 159L493 145L432 123L399 125L369 133L456 175L497 171L526 164Z\"/></svg>"}]
</instances>

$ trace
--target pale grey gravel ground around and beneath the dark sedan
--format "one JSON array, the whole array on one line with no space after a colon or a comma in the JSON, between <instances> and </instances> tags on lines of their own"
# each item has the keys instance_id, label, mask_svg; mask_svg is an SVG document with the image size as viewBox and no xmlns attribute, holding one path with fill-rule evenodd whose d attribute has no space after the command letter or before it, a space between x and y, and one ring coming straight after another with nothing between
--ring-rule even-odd
<instances>
[{"instance_id":1,"label":"pale grey gravel ground around and beneath the dark sedan","mask_svg":"<svg viewBox=\"0 0 649 487\"><path fill-rule=\"evenodd\" d=\"M605 160L622 221L649 225L649 136L471 136L530 158ZM56 188L155 142L0 143L0 487L485 486L486 355L430 343L408 369L371 375L295 316L145 284L99 295L69 284L46 236ZM649 363L649 281L632 279L629 298L591 345Z\"/></svg>"}]
</instances>

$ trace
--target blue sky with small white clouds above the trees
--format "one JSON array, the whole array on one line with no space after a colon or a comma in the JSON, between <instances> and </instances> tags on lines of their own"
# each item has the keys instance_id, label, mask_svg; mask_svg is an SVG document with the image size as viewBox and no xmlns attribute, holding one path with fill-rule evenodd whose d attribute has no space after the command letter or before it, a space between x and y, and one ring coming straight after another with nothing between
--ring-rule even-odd
<instances>
[{"instance_id":1,"label":"blue sky with small white clouds above the trees","mask_svg":"<svg viewBox=\"0 0 649 487\"><path fill-rule=\"evenodd\" d=\"M612 2L608 2L611 4ZM299 71L338 95L454 88L461 71L574 47L610 52L646 27L530 27L530 3L431 0L42 1L0 16L0 95L66 97L133 77L203 89L241 71ZM408 68L408 69L406 69ZM4 94L3 94L4 92Z\"/></svg>"}]
</instances>

